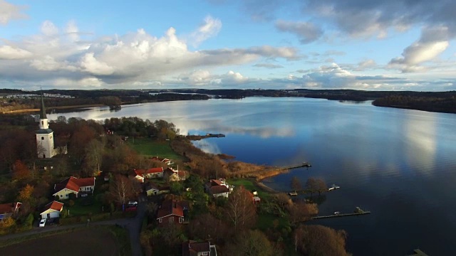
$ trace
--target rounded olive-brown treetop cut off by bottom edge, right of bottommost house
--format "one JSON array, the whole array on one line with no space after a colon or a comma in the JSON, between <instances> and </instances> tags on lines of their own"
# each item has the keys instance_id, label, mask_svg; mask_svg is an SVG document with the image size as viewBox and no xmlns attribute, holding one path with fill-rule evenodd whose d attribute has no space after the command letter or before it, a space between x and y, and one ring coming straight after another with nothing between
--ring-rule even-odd
<instances>
[{"instance_id":1,"label":"rounded olive-brown treetop cut off by bottom edge, right of bottommost house","mask_svg":"<svg viewBox=\"0 0 456 256\"><path fill-rule=\"evenodd\" d=\"M266 235L260 230L247 230L237 238L234 246L239 256L274 255L274 250Z\"/></svg>"}]
</instances>

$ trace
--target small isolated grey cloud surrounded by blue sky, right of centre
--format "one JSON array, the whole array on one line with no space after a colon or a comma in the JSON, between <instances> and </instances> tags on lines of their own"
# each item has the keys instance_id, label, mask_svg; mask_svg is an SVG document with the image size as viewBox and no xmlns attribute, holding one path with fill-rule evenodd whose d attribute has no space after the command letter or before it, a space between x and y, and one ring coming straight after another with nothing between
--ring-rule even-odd
<instances>
[{"instance_id":1,"label":"small isolated grey cloud surrounded by blue sky, right of centre","mask_svg":"<svg viewBox=\"0 0 456 256\"><path fill-rule=\"evenodd\" d=\"M293 33L301 43L311 43L323 35L323 30L311 22L276 21L276 28L282 32Z\"/></svg>"}]
</instances>

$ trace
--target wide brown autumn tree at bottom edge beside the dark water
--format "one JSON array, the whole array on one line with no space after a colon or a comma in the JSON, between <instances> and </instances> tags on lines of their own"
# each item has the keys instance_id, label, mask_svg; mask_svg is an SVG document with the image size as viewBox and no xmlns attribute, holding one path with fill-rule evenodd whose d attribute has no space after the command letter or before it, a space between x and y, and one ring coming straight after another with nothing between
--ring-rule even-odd
<instances>
[{"instance_id":1,"label":"wide brown autumn tree at bottom edge beside the dark water","mask_svg":"<svg viewBox=\"0 0 456 256\"><path fill-rule=\"evenodd\" d=\"M322 225L301 225L294 231L296 249L304 255L346 256L346 232Z\"/></svg>"}]
</instances>

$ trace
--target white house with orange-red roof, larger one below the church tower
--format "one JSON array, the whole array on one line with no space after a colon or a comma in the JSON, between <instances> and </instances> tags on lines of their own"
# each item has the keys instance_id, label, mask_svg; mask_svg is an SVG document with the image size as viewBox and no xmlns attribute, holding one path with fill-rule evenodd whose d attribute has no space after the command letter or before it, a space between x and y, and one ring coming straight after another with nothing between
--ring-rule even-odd
<instances>
[{"instance_id":1,"label":"white house with orange-red roof, larger one below the church tower","mask_svg":"<svg viewBox=\"0 0 456 256\"><path fill-rule=\"evenodd\" d=\"M76 197L78 197L80 193L93 193L94 188L95 177L75 178L71 176L70 178L66 178L66 180L54 185L55 193L53 193L52 196L58 196L60 199L68 199L71 193L75 194Z\"/></svg>"}]
</instances>

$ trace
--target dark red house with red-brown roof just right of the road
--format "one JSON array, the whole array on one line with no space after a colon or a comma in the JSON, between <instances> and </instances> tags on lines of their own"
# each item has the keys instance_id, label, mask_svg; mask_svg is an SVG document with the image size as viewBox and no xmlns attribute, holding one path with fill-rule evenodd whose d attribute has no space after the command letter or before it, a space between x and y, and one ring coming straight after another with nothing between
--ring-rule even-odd
<instances>
[{"instance_id":1,"label":"dark red house with red-brown roof just right of the road","mask_svg":"<svg viewBox=\"0 0 456 256\"><path fill-rule=\"evenodd\" d=\"M184 212L188 210L188 203L185 201L165 200L158 209L157 221L159 225L164 223L182 224Z\"/></svg>"}]
</instances>

